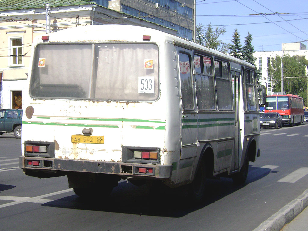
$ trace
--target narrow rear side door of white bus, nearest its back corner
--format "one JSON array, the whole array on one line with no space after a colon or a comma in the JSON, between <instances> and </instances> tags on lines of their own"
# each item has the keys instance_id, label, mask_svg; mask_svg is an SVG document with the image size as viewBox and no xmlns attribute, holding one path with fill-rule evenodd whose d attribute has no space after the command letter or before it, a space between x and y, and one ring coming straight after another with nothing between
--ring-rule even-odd
<instances>
[{"instance_id":1,"label":"narrow rear side door of white bus, nearest its back corner","mask_svg":"<svg viewBox=\"0 0 308 231\"><path fill-rule=\"evenodd\" d=\"M181 98L181 160L197 156L197 114L195 110L192 51L176 47Z\"/></svg>"}]
</instances>

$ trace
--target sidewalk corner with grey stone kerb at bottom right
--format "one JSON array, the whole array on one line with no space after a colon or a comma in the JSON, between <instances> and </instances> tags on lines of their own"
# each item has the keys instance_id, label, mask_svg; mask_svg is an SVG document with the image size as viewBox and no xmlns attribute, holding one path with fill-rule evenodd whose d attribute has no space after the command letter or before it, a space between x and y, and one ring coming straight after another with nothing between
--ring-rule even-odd
<instances>
[{"instance_id":1,"label":"sidewalk corner with grey stone kerb at bottom right","mask_svg":"<svg viewBox=\"0 0 308 231\"><path fill-rule=\"evenodd\" d=\"M308 189L253 231L307 231Z\"/></svg>"}]
</instances>

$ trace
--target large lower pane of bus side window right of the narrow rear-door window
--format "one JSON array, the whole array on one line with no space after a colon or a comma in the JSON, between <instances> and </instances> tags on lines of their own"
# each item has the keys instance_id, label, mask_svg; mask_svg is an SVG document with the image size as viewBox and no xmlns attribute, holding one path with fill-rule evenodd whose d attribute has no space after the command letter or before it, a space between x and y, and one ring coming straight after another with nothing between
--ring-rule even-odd
<instances>
[{"instance_id":1,"label":"large lower pane of bus side window right of the narrow rear-door window","mask_svg":"<svg viewBox=\"0 0 308 231\"><path fill-rule=\"evenodd\" d=\"M196 75L197 105L199 109L216 109L213 77Z\"/></svg>"}]
</instances>

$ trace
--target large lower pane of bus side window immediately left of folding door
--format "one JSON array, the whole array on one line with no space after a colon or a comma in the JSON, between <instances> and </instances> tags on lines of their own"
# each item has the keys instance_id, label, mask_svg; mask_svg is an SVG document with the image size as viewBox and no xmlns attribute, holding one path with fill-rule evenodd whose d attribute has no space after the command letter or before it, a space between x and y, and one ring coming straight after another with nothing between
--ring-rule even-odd
<instances>
[{"instance_id":1,"label":"large lower pane of bus side window immediately left of folding door","mask_svg":"<svg viewBox=\"0 0 308 231\"><path fill-rule=\"evenodd\" d=\"M233 97L229 80L216 78L217 103L219 110L232 110Z\"/></svg>"}]
</instances>

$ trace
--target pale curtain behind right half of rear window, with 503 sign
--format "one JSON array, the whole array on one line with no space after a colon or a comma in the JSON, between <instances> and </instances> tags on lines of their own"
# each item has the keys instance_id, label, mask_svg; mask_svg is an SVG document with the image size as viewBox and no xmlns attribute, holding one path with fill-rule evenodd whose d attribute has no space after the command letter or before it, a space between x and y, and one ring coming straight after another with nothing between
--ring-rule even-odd
<instances>
[{"instance_id":1,"label":"pale curtain behind right half of rear window, with 503 sign","mask_svg":"<svg viewBox=\"0 0 308 231\"><path fill-rule=\"evenodd\" d=\"M158 48L154 44L96 45L95 99L158 98Z\"/></svg>"}]
</instances>

